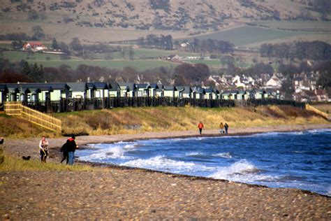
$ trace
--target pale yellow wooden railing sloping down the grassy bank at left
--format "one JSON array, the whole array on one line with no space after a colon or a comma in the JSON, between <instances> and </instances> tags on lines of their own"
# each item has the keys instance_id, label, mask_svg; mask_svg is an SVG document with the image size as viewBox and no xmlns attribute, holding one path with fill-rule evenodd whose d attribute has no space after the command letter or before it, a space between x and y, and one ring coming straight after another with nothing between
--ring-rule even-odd
<instances>
[{"instance_id":1,"label":"pale yellow wooden railing sloping down the grassy bank at left","mask_svg":"<svg viewBox=\"0 0 331 221\"><path fill-rule=\"evenodd\" d=\"M6 115L22 117L29 122L37 124L38 126L44 127L46 129L50 129L52 131L61 132L62 129L61 120L58 120L45 113L41 113L38 110L24 106L21 102L7 101L5 103L5 113Z\"/></svg>"}]
</instances>

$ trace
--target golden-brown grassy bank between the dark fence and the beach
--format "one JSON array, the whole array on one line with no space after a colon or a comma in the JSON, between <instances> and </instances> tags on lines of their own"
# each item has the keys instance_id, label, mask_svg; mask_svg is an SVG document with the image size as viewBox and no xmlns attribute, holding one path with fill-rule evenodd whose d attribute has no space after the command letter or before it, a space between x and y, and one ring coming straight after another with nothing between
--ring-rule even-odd
<instances>
[{"instance_id":1,"label":"golden-brown grassy bank between the dark fence and the beach","mask_svg":"<svg viewBox=\"0 0 331 221\"><path fill-rule=\"evenodd\" d=\"M195 130L199 121L205 129L217 129L220 122L230 128L260 127L279 124L325 124L320 115L292 106L256 108L114 108L56 113L62 120L62 134L139 134L147 131ZM0 136L9 138L59 136L15 117L0 115Z\"/></svg>"}]
</instances>

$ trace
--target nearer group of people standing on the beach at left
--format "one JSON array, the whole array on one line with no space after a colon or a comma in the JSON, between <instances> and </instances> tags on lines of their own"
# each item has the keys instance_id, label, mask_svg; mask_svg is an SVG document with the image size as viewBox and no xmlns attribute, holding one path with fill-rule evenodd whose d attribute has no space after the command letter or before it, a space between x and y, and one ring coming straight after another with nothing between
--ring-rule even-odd
<instances>
[{"instance_id":1,"label":"nearer group of people standing on the beach at left","mask_svg":"<svg viewBox=\"0 0 331 221\"><path fill-rule=\"evenodd\" d=\"M46 162L47 156L48 156L48 146L49 143L46 140L45 136L41 138L41 141L39 142L39 154L41 157L41 162ZM66 143L62 145L60 152L63 153L63 158L61 159L61 163L66 160L66 164L72 165L73 159L75 158L75 150L78 148L78 145L76 145L75 142L75 135L71 136L71 138L68 138L66 140Z\"/></svg>"}]
</instances>

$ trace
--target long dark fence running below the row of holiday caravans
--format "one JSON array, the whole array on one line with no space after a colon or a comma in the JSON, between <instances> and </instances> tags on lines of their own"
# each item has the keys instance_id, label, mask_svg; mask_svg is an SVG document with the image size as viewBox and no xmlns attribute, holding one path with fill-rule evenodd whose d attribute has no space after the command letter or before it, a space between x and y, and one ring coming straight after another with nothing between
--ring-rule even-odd
<instances>
[{"instance_id":1,"label":"long dark fence running below the row of holiday caravans","mask_svg":"<svg viewBox=\"0 0 331 221\"><path fill-rule=\"evenodd\" d=\"M22 101L28 106L42 113L64 113L80 110L100 110L124 107L152 107L152 106L193 106L201 108L219 108L233 106L260 106L260 105L288 105L305 108L304 103L279 99L193 99L172 97L106 97L93 99L60 99L59 101Z\"/></svg>"}]
</instances>

